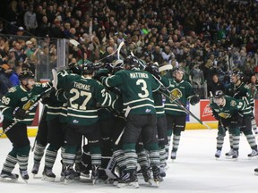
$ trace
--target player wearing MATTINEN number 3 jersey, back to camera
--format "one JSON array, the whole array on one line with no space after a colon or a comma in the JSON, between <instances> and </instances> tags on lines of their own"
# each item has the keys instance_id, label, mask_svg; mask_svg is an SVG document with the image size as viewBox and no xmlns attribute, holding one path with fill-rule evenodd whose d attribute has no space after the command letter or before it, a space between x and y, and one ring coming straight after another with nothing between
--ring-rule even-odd
<instances>
[{"instance_id":1,"label":"player wearing MATTINEN number 3 jersey, back to camera","mask_svg":"<svg viewBox=\"0 0 258 193\"><path fill-rule=\"evenodd\" d=\"M130 55L125 58L124 63L124 71L117 71L115 75L110 77L101 77L101 81L107 87L121 89L125 108L127 111L130 109L126 118L123 137L123 148L129 176L125 175L124 180L128 184L138 187L135 145L141 134L144 146L149 151L153 179L159 182L157 116L152 90L159 89L160 85L149 72L139 70L138 59ZM127 176L128 178L126 178Z\"/></svg>"}]
</instances>

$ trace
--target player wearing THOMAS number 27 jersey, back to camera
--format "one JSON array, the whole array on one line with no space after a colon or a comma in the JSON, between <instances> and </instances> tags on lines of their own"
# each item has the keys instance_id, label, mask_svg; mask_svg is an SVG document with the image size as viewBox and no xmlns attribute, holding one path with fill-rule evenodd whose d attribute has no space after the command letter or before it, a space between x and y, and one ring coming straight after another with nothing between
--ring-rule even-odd
<instances>
[{"instance_id":1,"label":"player wearing THOMAS number 27 jersey, back to camera","mask_svg":"<svg viewBox=\"0 0 258 193\"><path fill-rule=\"evenodd\" d=\"M98 178L101 164L100 129L97 105L109 106L114 99L98 80L93 80L94 64L82 65L82 76L69 74L58 76L58 87L64 89L68 101L67 124L64 133L64 182L73 180L73 164L82 135L88 139L91 155L92 183Z\"/></svg>"}]
</instances>

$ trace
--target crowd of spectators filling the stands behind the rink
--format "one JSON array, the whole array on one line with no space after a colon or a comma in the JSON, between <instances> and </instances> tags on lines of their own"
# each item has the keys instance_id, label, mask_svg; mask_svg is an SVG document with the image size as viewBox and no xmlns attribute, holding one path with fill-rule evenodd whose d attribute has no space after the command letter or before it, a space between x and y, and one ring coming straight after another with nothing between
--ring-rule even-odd
<instances>
[{"instance_id":1,"label":"crowd of spectators filling the stands behind the rink","mask_svg":"<svg viewBox=\"0 0 258 193\"><path fill-rule=\"evenodd\" d=\"M24 66L32 71L55 66L56 44L50 38L80 42L81 49L69 49L69 62L76 63L95 63L125 41L124 55L182 66L193 88L207 87L214 73L228 84L229 71L235 68L244 72L246 81L258 73L254 0L12 0L7 14L6 20L19 28L15 38L0 38L1 77L13 73L6 72L5 64L15 73ZM39 44L36 38L23 38L24 31L43 40ZM1 21L0 33L5 33ZM115 59L112 55L102 62Z\"/></svg>"}]
</instances>

